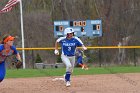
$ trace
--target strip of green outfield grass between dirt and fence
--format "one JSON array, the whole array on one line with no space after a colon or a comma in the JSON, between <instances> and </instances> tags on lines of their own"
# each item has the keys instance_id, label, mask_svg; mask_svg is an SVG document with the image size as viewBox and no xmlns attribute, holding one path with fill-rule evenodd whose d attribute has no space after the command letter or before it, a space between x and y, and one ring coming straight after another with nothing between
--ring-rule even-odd
<instances>
[{"instance_id":1,"label":"strip of green outfield grass between dirt and fence","mask_svg":"<svg viewBox=\"0 0 140 93\"><path fill-rule=\"evenodd\" d=\"M65 68L49 69L7 69L6 78L62 76ZM140 73L140 67L91 67L89 70L75 68L73 75Z\"/></svg>"}]
</instances>

